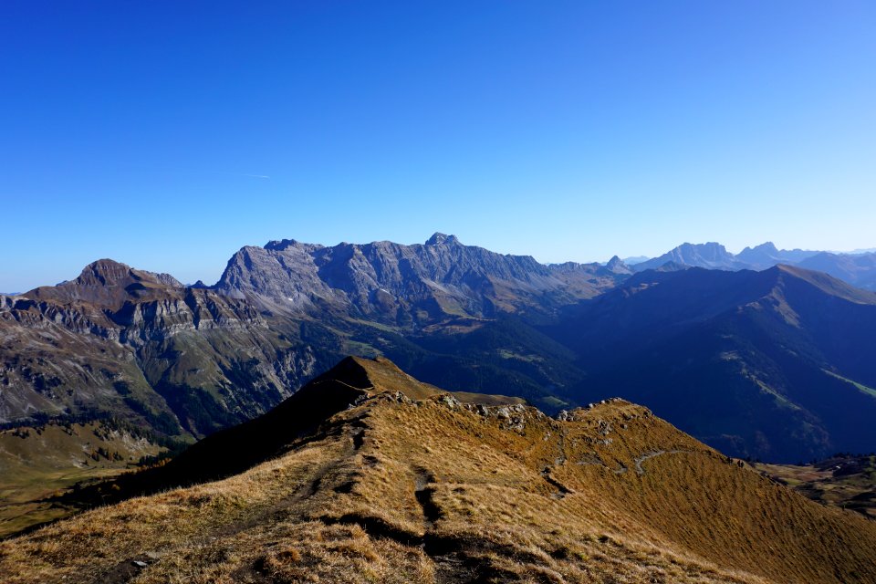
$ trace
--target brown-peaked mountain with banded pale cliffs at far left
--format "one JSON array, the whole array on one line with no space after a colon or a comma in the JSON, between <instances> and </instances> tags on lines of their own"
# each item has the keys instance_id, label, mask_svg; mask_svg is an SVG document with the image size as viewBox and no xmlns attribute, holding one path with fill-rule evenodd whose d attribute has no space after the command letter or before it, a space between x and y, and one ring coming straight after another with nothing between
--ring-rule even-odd
<instances>
[{"instance_id":1,"label":"brown-peaked mountain with banded pale cliffs at far left","mask_svg":"<svg viewBox=\"0 0 876 584\"><path fill-rule=\"evenodd\" d=\"M111 260L0 298L0 338L0 423L116 415L202 435L265 412L317 366L245 301Z\"/></svg>"}]
</instances>

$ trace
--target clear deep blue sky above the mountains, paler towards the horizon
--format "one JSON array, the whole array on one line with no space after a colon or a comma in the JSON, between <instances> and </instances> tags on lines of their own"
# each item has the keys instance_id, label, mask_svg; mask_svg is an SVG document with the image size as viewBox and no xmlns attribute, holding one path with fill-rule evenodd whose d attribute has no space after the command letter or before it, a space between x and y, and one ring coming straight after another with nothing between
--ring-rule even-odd
<instances>
[{"instance_id":1,"label":"clear deep blue sky above the mountains, paler towards the horizon","mask_svg":"<svg viewBox=\"0 0 876 584\"><path fill-rule=\"evenodd\" d=\"M876 245L876 4L0 3L0 290L242 245Z\"/></svg>"}]
</instances>

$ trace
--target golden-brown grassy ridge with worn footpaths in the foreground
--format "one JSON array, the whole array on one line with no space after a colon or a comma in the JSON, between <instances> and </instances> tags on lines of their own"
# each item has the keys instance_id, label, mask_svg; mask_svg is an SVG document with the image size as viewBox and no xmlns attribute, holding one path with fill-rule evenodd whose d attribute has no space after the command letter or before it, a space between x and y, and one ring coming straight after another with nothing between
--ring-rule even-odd
<instances>
[{"instance_id":1,"label":"golden-brown grassy ridge with worn footpaths in the foreground","mask_svg":"<svg viewBox=\"0 0 876 584\"><path fill-rule=\"evenodd\" d=\"M343 360L272 412L101 488L120 502L0 542L4 581L876 580L876 523L646 408L551 418L382 359Z\"/></svg>"}]
</instances>

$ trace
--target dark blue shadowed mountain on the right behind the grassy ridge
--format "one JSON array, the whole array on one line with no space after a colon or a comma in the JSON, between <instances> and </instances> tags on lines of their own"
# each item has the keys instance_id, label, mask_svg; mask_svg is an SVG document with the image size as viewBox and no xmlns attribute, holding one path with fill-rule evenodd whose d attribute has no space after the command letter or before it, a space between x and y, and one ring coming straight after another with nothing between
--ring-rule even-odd
<instances>
[{"instance_id":1,"label":"dark blue shadowed mountain on the right behind the grassy ridge","mask_svg":"<svg viewBox=\"0 0 876 584\"><path fill-rule=\"evenodd\" d=\"M876 443L876 294L825 274L645 272L553 334L588 374L572 395L647 404L727 454L793 462Z\"/></svg>"}]
</instances>

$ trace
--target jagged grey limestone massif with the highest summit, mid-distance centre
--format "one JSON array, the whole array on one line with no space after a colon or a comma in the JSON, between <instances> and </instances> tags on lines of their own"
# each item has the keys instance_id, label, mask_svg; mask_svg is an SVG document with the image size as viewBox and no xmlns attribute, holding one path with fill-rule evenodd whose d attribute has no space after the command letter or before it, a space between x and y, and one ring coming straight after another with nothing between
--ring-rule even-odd
<instances>
[{"instance_id":1,"label":"jagged grey limestone massif with the highest summit, mid-distance centre","mask_svg":"<svg viewBox=\"0 0 876 584\"><path fill-rule=\"evenodd\" d=\"M528 255L496 254L435 234L424 245L326 247L285 239L244 247L215 289L292 313L328 305L423 323L446 315L550 309L592 297L617 277L596 264L546 266Z\"/></svg>"}]
</instances>

